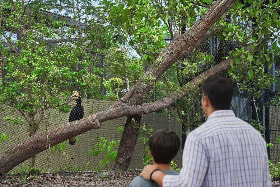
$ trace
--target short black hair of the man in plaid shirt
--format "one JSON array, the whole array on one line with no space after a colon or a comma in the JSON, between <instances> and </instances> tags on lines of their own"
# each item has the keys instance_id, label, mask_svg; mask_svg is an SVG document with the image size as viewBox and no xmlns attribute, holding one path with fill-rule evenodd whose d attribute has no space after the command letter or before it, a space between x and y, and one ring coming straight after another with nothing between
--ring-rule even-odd
<instances>
[{"instance_id":1,"label":"short black hair of the man in plaid shirt","mask_svg":"<svg viewBox=\"0 0 280 187\"><path fill-rule=\"evenodd\" d=\"M203 94L216 110L229 110L233 95L231 80L218 76L209 76L202 85Z\"/></svg>"}]
</instances>

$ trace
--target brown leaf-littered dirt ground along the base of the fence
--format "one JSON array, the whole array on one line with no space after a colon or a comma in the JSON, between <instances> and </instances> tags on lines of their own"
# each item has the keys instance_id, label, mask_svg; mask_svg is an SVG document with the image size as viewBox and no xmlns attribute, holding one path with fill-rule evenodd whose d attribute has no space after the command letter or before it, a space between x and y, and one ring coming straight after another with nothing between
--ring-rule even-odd
<instances>
[{"instance_id":1,"label":"brown leaf-littered dirt ground along the base of the fence","mask_svg":"<svg viewBox=\"0 0 280 187\"><path fill-rule=\"evenodd\" d=\"M0 186L31 186L31 187L91 187L91 186L128 186L139 175L141 170L133 171L103 171L81 173L52 173L35 176L22 174L0 176ZM273 182L273 187L280 186L279 181Z\"/></svg>"}]
</instances>

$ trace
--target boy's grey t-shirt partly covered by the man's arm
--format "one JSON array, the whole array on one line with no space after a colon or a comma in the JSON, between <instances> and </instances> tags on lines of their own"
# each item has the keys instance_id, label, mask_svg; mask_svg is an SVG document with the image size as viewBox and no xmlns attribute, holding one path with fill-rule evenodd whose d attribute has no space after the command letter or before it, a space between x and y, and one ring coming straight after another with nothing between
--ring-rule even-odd
<instances>
[{"instance_id":1,"label":"boy's grey t-shirt partly covered by the man's arm","mask_svg":"<svg viewBox=\"0 0 280 187\"><path fill-rule=\"evenodd\" d=\"M178 172L174 170L162 170L163 173L166 175L179 175ZM137 176L133 179L133 181L130 183L129 187L158 187L159 185L156 182L151 182L150 180L146 180L140 176Z\"/></svg>"}]
</instances>

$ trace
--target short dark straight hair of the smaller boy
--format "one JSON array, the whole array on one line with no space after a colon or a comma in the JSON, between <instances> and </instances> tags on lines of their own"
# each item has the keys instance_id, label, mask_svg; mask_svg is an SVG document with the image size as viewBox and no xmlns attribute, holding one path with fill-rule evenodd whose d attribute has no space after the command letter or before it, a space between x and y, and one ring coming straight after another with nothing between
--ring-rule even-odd
<instances>
[{"instance_id":1,"label":"short dark straight hair of the smaller boy","mask_svg":"<svg viewBox=\"0 0 280 187\"><path fill-rule=\"evenodd\" d=\"M180 148L180 140L174 132L161 129L154 132L149 147L157 164L170 164Z\"/></svg>"}]
</instances>

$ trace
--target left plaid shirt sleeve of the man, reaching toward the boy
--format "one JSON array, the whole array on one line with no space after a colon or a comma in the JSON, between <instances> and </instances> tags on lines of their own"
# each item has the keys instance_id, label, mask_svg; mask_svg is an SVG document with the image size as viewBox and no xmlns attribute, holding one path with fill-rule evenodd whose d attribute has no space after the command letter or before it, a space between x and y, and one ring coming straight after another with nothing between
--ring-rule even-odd
<instances>
[{"instance_id":1,"label":"left plaid shirt sleeve of the man, reaching toward the boy","mask_svg":"<svg viewBox=\"0 0 280 187\"><path fill-rule=\"evenodd\" d=\"M185 142L183 168L180 175L166 175L163 186L201 186L208 170L207 152L196 135L191 132Z\"/></svg>"}]
</instances>

